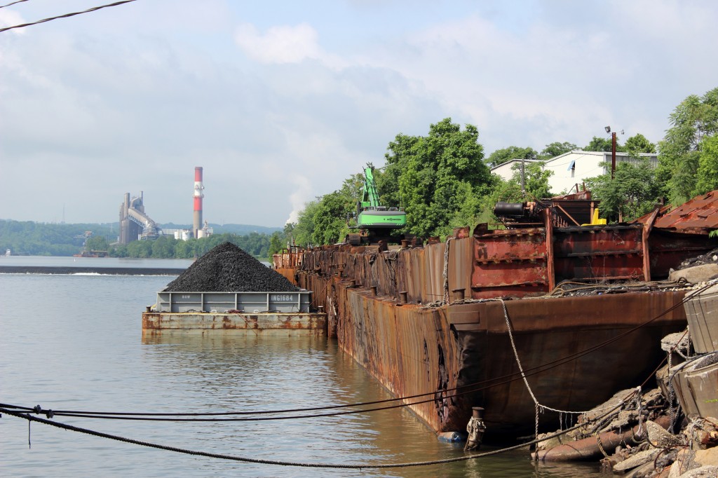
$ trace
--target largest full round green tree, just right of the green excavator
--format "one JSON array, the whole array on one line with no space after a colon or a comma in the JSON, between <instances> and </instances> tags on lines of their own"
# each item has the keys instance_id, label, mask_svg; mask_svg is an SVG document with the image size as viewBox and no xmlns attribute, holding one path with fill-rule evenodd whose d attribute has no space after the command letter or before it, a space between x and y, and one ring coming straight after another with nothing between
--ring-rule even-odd
<instances>
[{"instance_id":1,"label":"largest full round green tree, just right of the green excavator","mask_svg":"<svg viewBox=\"0 0 718 478\"><path fill-rule=\"evenodd\" d=\"M407 232L420 237L450 232L452 220L475 217L479 202L495 179L483 161L476 126L445 118L429 127L427 136L398 134L388 146L383 193L400 200ZM396 204L396 202L393 202Z\"/></svg>"}]
</instances>

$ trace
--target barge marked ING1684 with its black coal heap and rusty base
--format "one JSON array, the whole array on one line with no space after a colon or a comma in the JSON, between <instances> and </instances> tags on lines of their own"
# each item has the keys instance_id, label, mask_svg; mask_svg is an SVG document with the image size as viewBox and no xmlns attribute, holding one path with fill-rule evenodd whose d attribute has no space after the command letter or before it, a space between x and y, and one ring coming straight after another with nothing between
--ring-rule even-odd
<instances>
[{"instance_id":1,"label":"barge marked ING1684 with its black coal heap and rusty base","mask_svg":"<svg viewBox=\"0 0 718 478\"><path fill-rule=\"evenodd\" d=\"M311 296L223 243L157 292L142 314L142 333L323 335L326 316L309 311Z\"/></svg>"}]
</instances>

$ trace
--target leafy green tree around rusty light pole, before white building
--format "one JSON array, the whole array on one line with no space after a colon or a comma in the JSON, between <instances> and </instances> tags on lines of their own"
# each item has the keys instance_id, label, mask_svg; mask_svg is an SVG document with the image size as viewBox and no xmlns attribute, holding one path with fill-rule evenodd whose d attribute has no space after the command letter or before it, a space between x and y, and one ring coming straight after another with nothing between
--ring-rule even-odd
<instances>
[{"instance_id":1,"label":"leafy green tree around rusty light pole, before white building","mask_svg":"<svg viewBox=\"0 0 718 478\"><path fill-rule=\"evenodd\" d=\"M600 200L602 216L609 220L633 220L655 207L661 189L656 182L656 170L648 159L638 165L618 164L614 179L611 174L586 179L594 199Z\"/></svg>"}]
</instances>

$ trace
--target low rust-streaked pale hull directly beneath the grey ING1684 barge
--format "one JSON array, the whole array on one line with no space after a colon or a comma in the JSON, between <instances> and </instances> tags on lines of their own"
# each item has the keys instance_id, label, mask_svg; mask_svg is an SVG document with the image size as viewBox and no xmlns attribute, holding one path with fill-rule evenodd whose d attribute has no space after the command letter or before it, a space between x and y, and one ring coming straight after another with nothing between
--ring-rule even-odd
<instances>
[{"instance_id":1,"label":"low rust-streaked pale hull directly beneath the grey ING1684 barge","mask_svg":"<svg viewBox=\"0 0 718 478\"><path fill-rule=\"evenodd\" d=\"M245 332L261 334L323 335L325 314L207 314L196 312L144 312L142 333Z\"/></svg>"}]
</instances>

